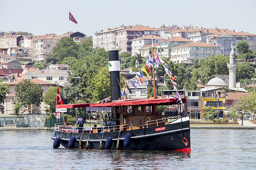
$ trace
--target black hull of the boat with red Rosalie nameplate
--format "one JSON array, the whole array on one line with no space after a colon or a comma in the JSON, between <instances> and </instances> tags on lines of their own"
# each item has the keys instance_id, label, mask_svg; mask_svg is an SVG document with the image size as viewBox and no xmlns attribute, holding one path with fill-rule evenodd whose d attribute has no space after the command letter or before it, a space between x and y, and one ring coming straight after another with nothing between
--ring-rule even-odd
<instances>
[{"instance_id":1,"label":"black hull of the boat with red Rosalie nameplate","mask_svg":"<svg viewBox=\"0 0 256 170\"><path fill-rule=\"evenodd\" d=\"M68 148L70 137L75 135L76 143L74 148L86 148L87 139L89 137L89 149L99 149L100 140L102 139L102 148L104 149L107 138L112 137L113 143L111 149L116 149L119 136L119 150L183 151L190 153L189 118L186 117L182 119L179 118L176 121L163 126L120 131L120 134L119 132L71 133L54 130L51 138L55 140L56 137L60 136L61 145ZM131 136L131 144L128 148L125 148L124 138L127 133Z\"/></svg>"}]
</instances>

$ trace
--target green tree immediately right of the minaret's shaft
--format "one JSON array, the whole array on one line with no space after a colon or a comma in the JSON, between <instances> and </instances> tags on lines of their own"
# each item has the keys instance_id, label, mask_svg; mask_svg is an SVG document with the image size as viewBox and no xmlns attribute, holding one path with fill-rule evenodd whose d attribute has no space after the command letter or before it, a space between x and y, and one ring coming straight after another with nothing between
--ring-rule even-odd
<instances>
[{"instance_id":1,"label":"green tree immediately right of the minaret's shaft","mask_svg":"<svg viewBox=\"0 0 256 170\"><path fill-rule=\"evenodd\" d=\"M237 82L243 82L244 79L251 79L255 75L254 67L249 62L238 62L238 68L237 68ZM250 80L249 80L250 81ZM246 82L246 83L249 83Z\"/></svg>"}]
</instances>

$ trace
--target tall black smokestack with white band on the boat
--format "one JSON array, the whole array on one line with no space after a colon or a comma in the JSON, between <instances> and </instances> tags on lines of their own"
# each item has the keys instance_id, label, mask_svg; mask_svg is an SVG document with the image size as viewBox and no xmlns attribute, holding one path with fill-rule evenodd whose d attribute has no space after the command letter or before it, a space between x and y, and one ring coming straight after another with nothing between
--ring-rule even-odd
<instances>
[{"instance_id":1,"label":"tall black smokestack with white band on the boat","mask_svg":"<svg viewBox=\"0 0 256 170\"><path fill-rule=\"evenodd\" d=\"M118 50L109 51L109 73L110 73L110 89L111 99L118 100L121 98L120 90L120 61Z\"/></svg>"}]
</instances>

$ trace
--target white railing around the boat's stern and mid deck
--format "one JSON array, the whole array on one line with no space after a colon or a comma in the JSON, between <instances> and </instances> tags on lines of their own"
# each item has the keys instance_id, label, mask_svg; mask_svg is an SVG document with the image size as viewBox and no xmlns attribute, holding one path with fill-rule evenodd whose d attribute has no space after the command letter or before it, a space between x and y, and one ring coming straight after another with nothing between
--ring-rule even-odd
<instances>
[{"instance_id":1,"label":"white railing around the boat's stern and mid deck","mask_svg":"<svg viewBox=\"0 0 256 170\"><path fill-rule=\"evenodd\" d=\"M134 130L133 124L122 124L122 125L115 125L115 126L101 126L101 127L79 127L79 130L82 130L86 133L97 133L97 132L117 132L122 129L128 128L129 130ZM54 127L57 131L62 132L77 132L78 129L76 129L75 123L57 123ZM94 131L95 130L95 131Z\"/></svg>"}]
</instances>

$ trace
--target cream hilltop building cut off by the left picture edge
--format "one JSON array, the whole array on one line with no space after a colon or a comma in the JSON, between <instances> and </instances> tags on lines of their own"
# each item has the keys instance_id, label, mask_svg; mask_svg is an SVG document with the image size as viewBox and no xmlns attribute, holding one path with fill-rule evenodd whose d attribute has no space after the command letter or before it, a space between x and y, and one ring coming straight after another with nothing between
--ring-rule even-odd
<instances>
[{"instance_id":1,"label":"cream hilltop building cut off by the left picture edge","mask_svg":"<svg viewBox=\"0 0 256 170\"><path fill-rule=\"evenodd\" d=\"M3 54L6 54L7 49L10 47L18 47L21 38L22 35L5 35L0 37L0 48L5 51Z\"/></svg>"}]
</instances>

